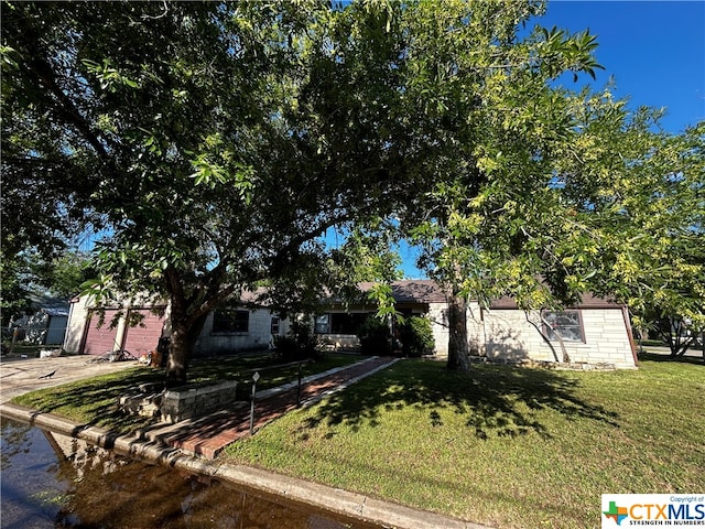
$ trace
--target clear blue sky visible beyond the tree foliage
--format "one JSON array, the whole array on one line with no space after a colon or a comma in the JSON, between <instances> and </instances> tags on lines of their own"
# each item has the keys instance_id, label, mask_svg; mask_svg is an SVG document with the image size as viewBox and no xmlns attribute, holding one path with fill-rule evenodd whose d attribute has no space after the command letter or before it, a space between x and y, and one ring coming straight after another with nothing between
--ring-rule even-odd
<instances>
[{"instance_id":1,"label":"clear blue sky visible beyond the tree foliage","mask_svg":"<svg viewBox=\"0 0 705 529\"><path fill-rule=\"evenodd\" d=\"M666 107L664 130L682 132L705 120L705 1L572 1L549 0L546 14L528 24L597 35L597 61L605 69L596 79L573 76L563 82L578 90L599 90L614 79L612 94L629 97L630 108ZM400 248L402 270L423 278L414 251Z\"/></svg>"}]
</instances>

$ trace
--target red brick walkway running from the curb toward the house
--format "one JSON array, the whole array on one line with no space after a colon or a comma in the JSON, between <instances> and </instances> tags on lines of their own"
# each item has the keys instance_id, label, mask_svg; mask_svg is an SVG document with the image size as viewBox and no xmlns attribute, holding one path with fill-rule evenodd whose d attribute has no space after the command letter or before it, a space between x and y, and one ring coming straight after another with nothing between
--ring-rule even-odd
<instances>
[{"instance_id":1,"label":"red brick walkway running from the curb toward the house","mask_svg":"<svg viewBox=\"0 0 705 529\"><path fill-rule=\"evenodd\" d=\"M334 392L349 384L369 376L379 369L393 364L394 358L375 357L354 364L350 367L324 375L319 378L303 382L301 387L301 401L303 406ZM254 402L254 431L270 421L296 409L297 388L284 391L267 392L271 397L262 398ZM241 407L209 414L207 417L183 421L163 429L163 431L149 432L152 439L185 452L214 458L228 444L250 434L250 402L243 402Z\"/></svg>"}]
</instances>

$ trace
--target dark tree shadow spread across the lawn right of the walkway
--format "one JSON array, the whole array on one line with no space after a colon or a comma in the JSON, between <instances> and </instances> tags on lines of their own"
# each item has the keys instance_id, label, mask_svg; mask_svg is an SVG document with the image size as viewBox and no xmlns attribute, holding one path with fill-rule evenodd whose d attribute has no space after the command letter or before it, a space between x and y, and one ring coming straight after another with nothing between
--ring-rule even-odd
<instances>
[{"instance_id":1,"label":"dark tree shadow spread across the lawn right of the walkway","mask_svg":"<svg viewBox=\"0 0 705 529\"><path fill-rule=\"evenodd\" d=\"M432 427L443 425L447 410L462 414L480 439L532 432L550 439L547 425L536 419L541 411L617 428L619 415L581 399L578 385L578 380L547 369L476 366L463 374L435 361L408 360L332 396L307 420L302 433L322 424L345 424L354 431L364 424L376 427L383 411L406 407L426 411Z\"/></svg>"}]
</instances>

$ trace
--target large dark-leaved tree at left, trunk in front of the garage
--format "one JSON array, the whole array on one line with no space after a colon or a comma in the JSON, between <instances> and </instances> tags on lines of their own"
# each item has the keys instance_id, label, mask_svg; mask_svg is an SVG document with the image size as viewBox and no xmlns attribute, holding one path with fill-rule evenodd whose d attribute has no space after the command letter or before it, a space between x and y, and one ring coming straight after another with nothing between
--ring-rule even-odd
<instances>
[{"instance_id":1,"label":"large dark-leaved tree at left, trunk in front of the garage","mask_svg":"<svg viewBox=\"0 0 705 529\"><path fill-rule=\"evenodd\" d=\"M50 224L101 220L97 298L169 298L170 382L210 310L263 280L282 305L324 283L326 229L383 217L415 187L387 8L3 7L6 185L47 188Z\"/></svg>"}]
</instances>

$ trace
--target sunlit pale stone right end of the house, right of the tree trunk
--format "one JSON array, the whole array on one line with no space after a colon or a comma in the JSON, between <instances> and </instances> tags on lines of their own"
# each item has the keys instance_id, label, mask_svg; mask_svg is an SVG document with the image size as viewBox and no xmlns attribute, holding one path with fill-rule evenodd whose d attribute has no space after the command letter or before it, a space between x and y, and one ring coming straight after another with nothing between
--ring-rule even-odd
<instances>
[{"instance_id":1,"label":"sunlit pale stone right end of the house, right of the tree trunk","mask_svg":"<svg viewBox=\"0 0 705 529\"><path fill-rule=\"evenodd\" d=\"M489 359L562 361L560 333L571 363L637 365L627 307L589 294L563 311L525 312L509 298L470 303L467 327L471 353Z\"/></svg>"}]
</instances>

